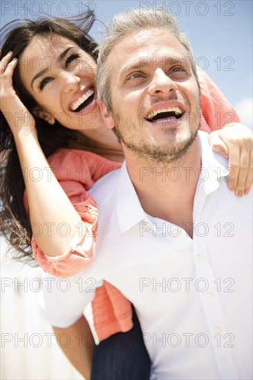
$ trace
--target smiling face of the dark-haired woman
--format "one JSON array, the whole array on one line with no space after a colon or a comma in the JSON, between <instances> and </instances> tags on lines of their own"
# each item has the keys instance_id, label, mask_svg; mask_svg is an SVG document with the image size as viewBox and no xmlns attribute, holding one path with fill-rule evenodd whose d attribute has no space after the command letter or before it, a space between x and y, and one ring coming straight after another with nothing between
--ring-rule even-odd
<instances>
[{"instance_id":1,"label":"smiling face of the dark-haired woman","mask_svg":"<svg viewBox=\"0 0 253 380\"><path fill-rule=\"evenodd\" d=\"M24 87L40 108L39 117L86 131L103 124L96 100L96 64L65 37L36 36L19 57Z\"/></svg>"}]
</instances>

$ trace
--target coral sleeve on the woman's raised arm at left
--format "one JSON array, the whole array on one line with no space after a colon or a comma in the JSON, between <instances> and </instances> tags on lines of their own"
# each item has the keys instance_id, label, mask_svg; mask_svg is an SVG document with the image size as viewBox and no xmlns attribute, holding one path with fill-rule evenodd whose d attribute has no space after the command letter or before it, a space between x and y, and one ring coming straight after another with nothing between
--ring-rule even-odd
<instances>
[{"instance_id":1,"label":"coral sleeve on the woman's raised arm at left","mask_svg":"<svg viewBox=\"0 0 253 380\"><path fill-rule=\"evenodd\" d=\"M95 180L120 163L111 162L90 152L61 149L48 159L48 163L61 184L73 207L82 218L79 231L71 246L66 247L62 255L53 257L44 254L32 236L31 245L37 263L48 274L56 277L69 277L79 273L91 264L97 234L97 205L88 189ZM24 203L28 209L26 192Z\"/></svg>"}]
</instances>

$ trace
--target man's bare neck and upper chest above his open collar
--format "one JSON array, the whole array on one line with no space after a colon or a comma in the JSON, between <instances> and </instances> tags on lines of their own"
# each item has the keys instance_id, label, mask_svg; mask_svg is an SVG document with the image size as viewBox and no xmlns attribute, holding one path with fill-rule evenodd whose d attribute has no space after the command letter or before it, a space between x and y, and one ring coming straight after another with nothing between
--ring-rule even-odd
<instances>
[{"instance_id":1,"label":"man's bare neck and upper chest above his open collar","mask_svg":"<svg viewBox=\"0 0 253 380\"><path fill-rule=\"evenodd\" d=\"M125 157L144 211L179 225L192 237L194 196L201 167L198 138L183 158L171 164L140 162L129 151L125 151Z\"/></svg>"}]
</instances>

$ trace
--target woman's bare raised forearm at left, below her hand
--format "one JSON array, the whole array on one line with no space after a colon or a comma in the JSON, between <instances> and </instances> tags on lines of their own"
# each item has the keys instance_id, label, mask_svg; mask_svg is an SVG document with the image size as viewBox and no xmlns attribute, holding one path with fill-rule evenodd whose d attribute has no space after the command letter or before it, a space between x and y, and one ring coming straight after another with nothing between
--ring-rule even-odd
<instances>
[{"instance_id":1,"label":"woman's bare raised forearm at left, below her hand","mask_svg":"<svg viewBox=\"0 0 253 380\"><path fill-rule=\"evenodd\" d=\"M33 236L45 254L59 256L70 247L82 219L51 171L36 135L32 132L22 137L16 135L15 143L26 184Z\"/></svg>"}]
</instances>

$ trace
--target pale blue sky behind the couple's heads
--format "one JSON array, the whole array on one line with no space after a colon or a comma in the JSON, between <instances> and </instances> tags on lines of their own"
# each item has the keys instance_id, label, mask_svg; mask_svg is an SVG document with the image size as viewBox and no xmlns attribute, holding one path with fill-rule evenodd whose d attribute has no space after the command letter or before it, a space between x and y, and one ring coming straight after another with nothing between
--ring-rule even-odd
<instances>
[{"instance_id":1,"label":"pale blue sky behind the couple's heads","mask_svg":"<svg viewBox=\"0 0 253 380\"><path fill-rule=\"evenodd\" d=\"M95 9L97 19L109 23L113 15L129 8L162 6L170 10L187 32L196 63L214 79L227 99L252 126L252 0L236 1L1 1L1 26L43 13L59 17L78 14L82 4ZM26 6L26 10L24 9ZM85 7L83 6L83 10ZM102 39L102 23L91 35ZM250 125L251 124L251 125Z\"/></svg>"}]
</instances>

